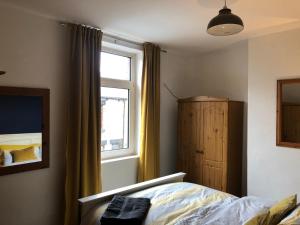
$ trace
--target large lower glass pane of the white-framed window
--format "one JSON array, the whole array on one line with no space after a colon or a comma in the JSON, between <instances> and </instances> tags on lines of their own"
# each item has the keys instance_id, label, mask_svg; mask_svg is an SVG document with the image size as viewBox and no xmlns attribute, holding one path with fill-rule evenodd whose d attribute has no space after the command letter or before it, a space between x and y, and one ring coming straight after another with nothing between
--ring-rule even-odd
<instances>
[{"instance_id":1,"label":"large lower glass pane of the white-framed window","mask_svg":"<svg viewBox=\"0 0 300 225\"><path fill-rule=\"evenodd\" d=\"M129 90L101 87L101 151L129 147Z\"/></svg>"}]
</instances>

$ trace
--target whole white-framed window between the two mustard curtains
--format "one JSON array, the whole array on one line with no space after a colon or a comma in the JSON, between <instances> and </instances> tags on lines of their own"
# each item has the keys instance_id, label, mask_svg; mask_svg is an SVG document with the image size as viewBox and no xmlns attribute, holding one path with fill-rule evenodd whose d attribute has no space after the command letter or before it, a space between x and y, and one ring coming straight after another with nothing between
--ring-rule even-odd
<instances>
[{"instance_id":1,"label":"whole white-framed window between the two mustard curtains","mask_svg":"<svg viewBox=\"0 0 300 225\"><path fill-rule=\"evenodd\" d=\"M134 54L106 49L101 52L102 158L135 153Z\"/></svg>"}]
</instances>

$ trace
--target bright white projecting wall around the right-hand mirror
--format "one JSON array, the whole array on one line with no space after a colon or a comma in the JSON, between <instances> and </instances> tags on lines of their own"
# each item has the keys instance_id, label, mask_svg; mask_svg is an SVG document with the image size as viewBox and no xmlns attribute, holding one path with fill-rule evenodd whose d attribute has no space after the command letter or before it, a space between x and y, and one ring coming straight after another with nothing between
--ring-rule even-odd
<instances>
[{"instance_id":1,"label":"bright white projecting wall around the right-hand mirror","mask_svg":"<svg viewBox=\"0 0 300 225\"><path fill-rule=\"evenodd\" d=\"M300 150L276 147L276 80L300 77L300 30L249 41L248 194L300 194Z\"/></svg>"}]
</instances>

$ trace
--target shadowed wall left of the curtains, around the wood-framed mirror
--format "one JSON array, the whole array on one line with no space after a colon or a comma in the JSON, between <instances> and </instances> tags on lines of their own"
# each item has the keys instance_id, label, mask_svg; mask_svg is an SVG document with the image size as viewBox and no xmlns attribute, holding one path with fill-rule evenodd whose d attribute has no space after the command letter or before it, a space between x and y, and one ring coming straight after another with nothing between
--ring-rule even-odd
<instances>
[{"instance_id":1,"label":"shadowed wall left of the curtains, around the wood-framed mirror","mask_svg":"<svg viewBox=\"0 0 300 225\"><path fill-rule=\"evenodd\" d=\"M62 224L67 34L56 22L0 6L0 85L50 89L50 168L0 177L5 225Z\"/></svg>"}]
</instances>

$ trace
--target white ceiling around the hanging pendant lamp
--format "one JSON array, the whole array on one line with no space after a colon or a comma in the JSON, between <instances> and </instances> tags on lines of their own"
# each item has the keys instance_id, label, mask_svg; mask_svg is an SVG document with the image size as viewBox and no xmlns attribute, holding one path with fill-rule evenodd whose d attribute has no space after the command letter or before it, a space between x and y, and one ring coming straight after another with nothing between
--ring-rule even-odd
<instances>
[{"instance_id":1,"label":"white ceiling around the hanging pendant lamp","mask_svg":"<svg viewBox=\"0 0 300 225\"><path fill-rule=\"evenodd\" d=\"M228 0L245 30L230 37L206 33L223 0L2 0L57 20L100 27L135 41L166 49L205 52L257 35L300 27L299 0Z\"/></svg>"}]
</instances>

